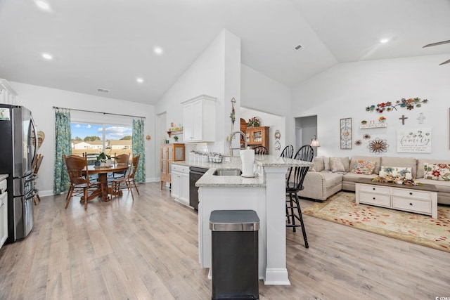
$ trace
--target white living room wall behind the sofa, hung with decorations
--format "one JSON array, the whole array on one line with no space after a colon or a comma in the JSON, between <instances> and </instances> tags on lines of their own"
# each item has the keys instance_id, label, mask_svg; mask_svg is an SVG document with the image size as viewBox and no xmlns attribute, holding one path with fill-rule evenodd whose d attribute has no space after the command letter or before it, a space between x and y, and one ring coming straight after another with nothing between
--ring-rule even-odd
<instances>
[{"instance_id":1,"label":"white living room wall behind the sofa, hung with decorations","mask_svg":"<svg viewBox=\"0 0 450 300\"><path fill-rule=\"evenodd\" d=\"M319 155L375 155L367 148L369 140L362 138L369 133L370 140L377 137L387 140L389 148L381 155L448 158L450 69L449 65L439 66L446 59L448 56L422 56L340 63L293 89L293 117L317 115ZM361 120L380 116L377 112L366 112L367 106L416 97L427 98L429 103L413 110L398 108L384 112L385 129L359 129ZM418 123L420 112L426 117L423 124ZM404 125L399 120L401 115L409 118ZM340 119L348 117L352 118L353 147L340 150ZM397 152L397 129L420 128L432 129L432 153ZM354 145L356 139L363 141L363 145Z\"/></svg>"}]
</instances>

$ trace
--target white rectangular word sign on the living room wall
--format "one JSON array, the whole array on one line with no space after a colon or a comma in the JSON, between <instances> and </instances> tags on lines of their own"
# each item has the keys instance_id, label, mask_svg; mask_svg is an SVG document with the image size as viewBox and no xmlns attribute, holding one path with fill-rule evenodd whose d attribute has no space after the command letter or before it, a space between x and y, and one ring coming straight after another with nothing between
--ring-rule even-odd
<instances>
[{"instance_id":1,"label":"white rectangular word sign on the living room wall","mask_svg":"<svg viewBox=\"0 0 450 300\"><path fill-rule=\"evenodd\" d=\"M431 153L431 129L398 129L397 152Z\"/></svg>"}]
</instances>

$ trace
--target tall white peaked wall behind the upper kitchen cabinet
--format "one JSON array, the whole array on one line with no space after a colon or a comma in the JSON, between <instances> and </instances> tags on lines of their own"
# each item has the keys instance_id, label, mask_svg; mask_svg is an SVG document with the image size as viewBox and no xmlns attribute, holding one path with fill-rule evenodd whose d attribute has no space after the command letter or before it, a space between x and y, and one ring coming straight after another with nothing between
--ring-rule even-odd
<instances>
[{"instance_id":1,"label":"tall white peaked wall behind the upper kitchen cabinet","mask_svg":"<svg viewBox=\"0 0 450 300\"><path fill-rule=\"evenodd\" d=\"M156 112L167 113L167 128L171 122L182 124L181 103L202 94L217 98L216 142L210 143L208 147L212 151L223 153L228 149L226 136L231 128L231 98L240 102L240 39L228 30L222 30L162 96L156 105ZM179 142L183 143L182 137L180 138ZM186 143L186 152L193 148L194 143Z\"/></svg>"}]
</instances>

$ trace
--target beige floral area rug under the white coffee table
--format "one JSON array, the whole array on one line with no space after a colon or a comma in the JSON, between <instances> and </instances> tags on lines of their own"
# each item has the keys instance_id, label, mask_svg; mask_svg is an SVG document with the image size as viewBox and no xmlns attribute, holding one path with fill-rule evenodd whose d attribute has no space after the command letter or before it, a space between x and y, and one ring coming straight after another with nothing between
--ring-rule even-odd
<instances>
[{"instance_id":1,"label":"beige floral area rug under the white coffee table","mask_svg":"<svg viewBox=\"0 0 450 300\"><path fill-rule=\"evenodd\" d=\"M341 191L307 207L303 214L450 252L448 206L438 205L437 219L432 219L422 214L356 204L354 193Z\"/></svg>"}]
</instances>

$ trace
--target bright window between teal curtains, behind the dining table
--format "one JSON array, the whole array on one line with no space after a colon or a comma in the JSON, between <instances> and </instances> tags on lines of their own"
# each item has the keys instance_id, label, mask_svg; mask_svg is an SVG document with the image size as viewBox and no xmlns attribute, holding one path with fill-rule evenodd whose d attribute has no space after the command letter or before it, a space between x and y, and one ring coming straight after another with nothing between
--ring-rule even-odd
<instances>
[{"instance_id":1,"label":"bright window between teal curtains, behind the dining table","mask_svg":"<svg viewBox=\"0 0 450 300\"><path fill-rule=\"evenodd\" d=\"M122 153L132 156L131 125L72 122L72 154L96 156L100 152L114 157Z\"/></svg>"}]
</instances>

